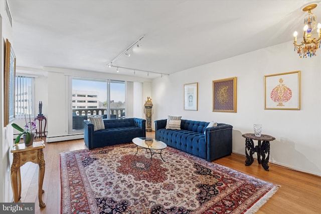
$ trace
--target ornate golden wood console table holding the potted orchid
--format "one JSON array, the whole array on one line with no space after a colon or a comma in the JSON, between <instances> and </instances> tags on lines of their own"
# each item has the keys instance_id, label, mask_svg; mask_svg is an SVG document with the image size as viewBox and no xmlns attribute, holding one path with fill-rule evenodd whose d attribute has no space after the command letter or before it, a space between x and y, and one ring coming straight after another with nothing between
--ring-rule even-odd
<instances>
[{"instance_id":1,"label":"ornate golden wood console table holding the potted orchid","mask_svg":"<svg viewBox=\"0 0 321 214\"><path fill-rule=\"evenodd\" d=\"M35 141L32 146L25 146L25 143L19 143L11 149L14 154L14 161L11 165L11 185L14 193L14 202L18 202L21 198L21 175L20 166L31 161L39 165L38 177L38 198L39 206L45 207L46 204L42 201L42 189L45 175L45 157L43 153L45 148L44 141Z\"/></svg>"}]
</instances>

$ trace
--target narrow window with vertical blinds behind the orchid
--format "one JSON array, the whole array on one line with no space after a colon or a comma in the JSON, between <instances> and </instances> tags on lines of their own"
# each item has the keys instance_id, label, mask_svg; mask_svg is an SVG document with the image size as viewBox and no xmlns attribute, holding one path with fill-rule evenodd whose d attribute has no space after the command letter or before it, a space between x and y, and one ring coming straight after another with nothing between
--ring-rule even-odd
<instances>
[{"instance_id":1,"label":"narrow window with vertical blinds behind the orchid","mask_svg":"<svg viewBox=\"0 0 321 214\"><path fill-rule=\"evenodd\" d=\"M31 114L32 117L35 116L34 79L34 77L16 76L16 119L23 119L24 114Z\"/></svg>"}]
</instances>

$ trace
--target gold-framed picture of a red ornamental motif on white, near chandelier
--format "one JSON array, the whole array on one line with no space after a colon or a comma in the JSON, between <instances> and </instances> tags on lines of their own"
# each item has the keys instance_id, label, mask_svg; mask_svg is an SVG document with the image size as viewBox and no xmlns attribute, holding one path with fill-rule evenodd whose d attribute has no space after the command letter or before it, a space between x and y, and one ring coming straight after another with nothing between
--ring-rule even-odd
<instances>
[{"instance_id":1,"label":"gold-framed picture of a red ornamental motif on white, near chandelier","mask_svg":"<svg viewBox=\"0 0 321 214\"><path fill-rule=\"evenodd\" d=\"M300 110L300 71L264 76L264 109Z\"/></svg>"}]
</instances>

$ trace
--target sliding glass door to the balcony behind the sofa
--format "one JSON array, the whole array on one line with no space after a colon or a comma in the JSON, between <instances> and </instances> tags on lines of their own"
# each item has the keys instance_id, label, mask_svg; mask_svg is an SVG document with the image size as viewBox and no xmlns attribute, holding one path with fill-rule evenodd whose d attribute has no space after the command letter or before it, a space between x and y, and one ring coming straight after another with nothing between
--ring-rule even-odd
<instances>
[{"instance_id":1,"label":"sliding glass door to the balcony behind the sofa","mask_svg":"<svg viewBox=\"0 0 321 214\"><path fill-rule=\"evenodd\" d=\"M125 118L125 82L70 77L69 133L82 133L88 116Z\"/></svg>"}]
</instances>

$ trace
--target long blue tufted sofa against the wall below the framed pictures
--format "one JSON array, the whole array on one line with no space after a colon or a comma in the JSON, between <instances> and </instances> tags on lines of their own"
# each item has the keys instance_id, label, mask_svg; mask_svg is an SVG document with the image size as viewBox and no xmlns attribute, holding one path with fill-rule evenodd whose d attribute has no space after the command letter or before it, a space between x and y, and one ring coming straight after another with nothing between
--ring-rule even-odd
<instances>
[{"instance_id":1,"label":"long blue tufted sofa against the wall below the framed pictures","mask_svg":"<svg viewBox=\"0 0 321 214\"><path fill-rule=\"evenodd\" d=\"M218 123L217 126L207 128L209 122L181 121L181 130L173 130L166 129L167 119L156 120L156 140L208 161L231 155L233 126Z\"/></svg>"}]
</instances>

